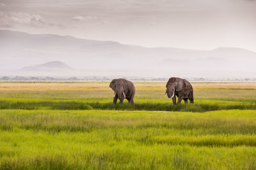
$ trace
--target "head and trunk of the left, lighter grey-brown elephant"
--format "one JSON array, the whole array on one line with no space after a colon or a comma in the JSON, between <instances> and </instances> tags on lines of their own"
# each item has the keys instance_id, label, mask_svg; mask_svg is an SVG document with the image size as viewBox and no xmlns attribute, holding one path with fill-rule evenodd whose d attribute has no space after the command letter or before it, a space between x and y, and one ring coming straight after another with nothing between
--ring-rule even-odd
<instances>
[{"instance_id":1,"label":"head and trunk of the left, lighter grey-brown elephant","mask_svg":"<svg viewBox=\"0 0 256 170\"><path fill-rule=\"evenodd\" d=\"M123 80L120 79L114 79L109 84L109 87L115 91L114 97L117 95L118 99L120 101L124 101L125 99L125 93L126 86Z\"/></svg>"}]
</instances>

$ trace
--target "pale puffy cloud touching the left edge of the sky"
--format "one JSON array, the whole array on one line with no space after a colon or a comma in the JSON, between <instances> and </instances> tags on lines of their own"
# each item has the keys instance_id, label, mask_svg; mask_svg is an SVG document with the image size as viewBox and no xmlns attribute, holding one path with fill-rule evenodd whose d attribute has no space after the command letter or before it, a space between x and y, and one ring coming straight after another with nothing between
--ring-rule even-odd
<instances>
[{"instance_id":1,"label":"pale puffy cloud touching the left edge of the sky","mask_svg":"<svg viewBox=\"0 0 256 170\"><path fill-rule=\"evenodd\" d=\"M44 19L40 15L31 15L22 12L0 11L0 27L15 27L17 25L30 25L39 27L45 25Z\"/></svg>"}]
</instances>

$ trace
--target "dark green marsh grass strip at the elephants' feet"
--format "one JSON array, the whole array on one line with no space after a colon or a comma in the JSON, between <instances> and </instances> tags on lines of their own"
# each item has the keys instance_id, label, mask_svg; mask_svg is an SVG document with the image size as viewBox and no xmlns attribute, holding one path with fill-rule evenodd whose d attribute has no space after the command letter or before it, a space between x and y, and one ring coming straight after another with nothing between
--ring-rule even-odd
<instances>
[{"instance_id":1,"label":"dark green marsh grass strip at the elephants' feet","mask_svg":"<svg viewBox=\"0 0 256 170\"><path fill-rule=\"evenodd\" d=\"M100 101L100 102L99 102ZM174 106L164 99L138 99L134 105L112 104L110 99L0 99L0 109L19 110L149 110L149 111L191 111L204 112L214 110L256 110L255 100L225 101L201 99L195 104L180 104Z\"/></svg>"}]
</instances>

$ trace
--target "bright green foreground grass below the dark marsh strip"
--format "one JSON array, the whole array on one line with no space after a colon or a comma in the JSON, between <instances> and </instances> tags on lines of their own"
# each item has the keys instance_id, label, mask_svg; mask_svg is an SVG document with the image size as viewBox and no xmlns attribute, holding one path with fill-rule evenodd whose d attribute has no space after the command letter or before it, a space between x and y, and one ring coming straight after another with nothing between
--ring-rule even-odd
<instances>
[{"instance_id":1,"label":"bright green foreground grass below the dark marsh strip","mask_svg":"<svg viewBox=\"0 0 256 170\"><path fill-rule=\"evenodd\" d=\"M1 169L255 169L255 111L0 114Z\"/></svg>"}]
</instances>

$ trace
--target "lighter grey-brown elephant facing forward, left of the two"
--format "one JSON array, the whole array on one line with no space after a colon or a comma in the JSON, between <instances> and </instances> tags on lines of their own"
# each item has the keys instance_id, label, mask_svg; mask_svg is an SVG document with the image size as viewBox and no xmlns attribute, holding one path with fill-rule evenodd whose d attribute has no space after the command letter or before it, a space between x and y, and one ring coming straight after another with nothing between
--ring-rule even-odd
<instances>
[{"instance_id":1,"label":"lighter grey-brown elephant facing forward, left of the two","mask_svg":"<svg viewBox=\"0 0 256 170\"><path fill-rule=\"evenodd\" d=\"M134 104L133 98L135 94L135 87L131 81L124 78L118 78L111 81L109 87L115 91L113 103L116 104L117 99L120 103L123 103L124 99L127 99L129 103Z\"/></svg>"}]
</instances>

